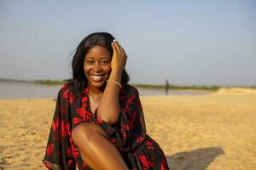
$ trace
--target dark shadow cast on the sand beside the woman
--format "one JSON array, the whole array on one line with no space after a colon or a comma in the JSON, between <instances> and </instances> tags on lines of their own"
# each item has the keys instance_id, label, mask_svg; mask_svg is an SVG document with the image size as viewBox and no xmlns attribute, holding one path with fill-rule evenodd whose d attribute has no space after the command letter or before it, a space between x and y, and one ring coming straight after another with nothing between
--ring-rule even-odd
<instances>
[{"instance_id":1,"label":"dark shadow cast on the sand beside the woman","mask_svg":"<svg viewBox=\"0 0 256 170\"><path fill-rule=\"evenodd\" d=\"M170 170L205 170L215 157L224 154L217 147L183 151L167 156Z\"/></svg>"}]
</instances>

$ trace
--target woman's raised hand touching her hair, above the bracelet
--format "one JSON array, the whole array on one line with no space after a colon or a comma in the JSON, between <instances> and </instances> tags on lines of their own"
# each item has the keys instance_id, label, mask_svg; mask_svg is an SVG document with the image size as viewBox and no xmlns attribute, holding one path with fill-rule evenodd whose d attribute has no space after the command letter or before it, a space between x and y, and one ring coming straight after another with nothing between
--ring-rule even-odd
<instances>
[{"instance_id":1,"label":"woman's raised hand touching her hair, above the bracelet","mask_svg":"<svg viewBox=\"0 0 256 170\"><path fill-rule=\"evenodd\" d=\"M111 60L111 69L112 71L118 71L121 73L126 65L127 55L125 50L119 45L119 42L113 40L111 43L113 48L113 56Z\"/></svg>"}]
</instances>

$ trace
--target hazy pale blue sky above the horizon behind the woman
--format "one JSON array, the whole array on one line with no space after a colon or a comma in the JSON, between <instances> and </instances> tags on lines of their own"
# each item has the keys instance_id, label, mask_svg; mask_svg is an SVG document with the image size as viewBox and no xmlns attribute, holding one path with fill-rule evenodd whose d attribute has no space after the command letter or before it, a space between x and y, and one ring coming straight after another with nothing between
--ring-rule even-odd
<instances>
[{"instance_id":1,"label":"hazy pale blue sky above the horizon behind the woman","mask_svg":"<svg viewBox=\"0 0 256 170\"><path fill-rule=\"evenodd\" d=\"M0 0L0 78L71 78L96 31L125 49L131 83L256 86L253 0Z\"/></svg>"}]
</instances>

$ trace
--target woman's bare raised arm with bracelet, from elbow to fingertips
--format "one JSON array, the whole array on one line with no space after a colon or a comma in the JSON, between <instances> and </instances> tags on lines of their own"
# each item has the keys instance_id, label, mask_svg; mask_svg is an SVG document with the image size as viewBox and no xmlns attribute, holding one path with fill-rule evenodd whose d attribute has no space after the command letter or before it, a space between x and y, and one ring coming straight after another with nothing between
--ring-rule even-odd
<instances>
[{"instance_id":1,"label":"woman's bare raised arm with bracelet, from elbow to fingertips","mask_svg":"<svg viewBox=\"0 0 256 170\"><path fill-rule=\"evenodd\" d=\"M113 57L111 60L111 73L109 80L120 82L122 71L126 64L126 54L118 42L113 41ZM119 121L119 85L114 82L108 82L104 93L102 94L101 102L97 109L97 116L100 116L103 121L109 124L114 124Z\"/></svg>"}]
</instances>

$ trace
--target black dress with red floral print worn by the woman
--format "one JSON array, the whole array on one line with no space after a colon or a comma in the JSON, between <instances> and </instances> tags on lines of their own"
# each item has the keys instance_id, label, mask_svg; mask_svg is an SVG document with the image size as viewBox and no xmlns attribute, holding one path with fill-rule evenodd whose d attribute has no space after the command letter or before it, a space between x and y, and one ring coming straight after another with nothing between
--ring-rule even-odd
<instances>
[{"instance_id":1,"label":"black dress with red floral print worn by the woman","mask_svg":"<svg viewBox=\"0 0 256 170\"><path fill-rule=\"evenodd\" d=\"M80 123L100 125L119 150L129 169L169 169L164 152L146 133L143 108L137 88L124 85L119 90L119 122L110 125L90 111L89 91L74 95L65 84L59 91L44 156L49 169L89 170L73 143L71 133Z\"/></svg>"}]
</instances>

